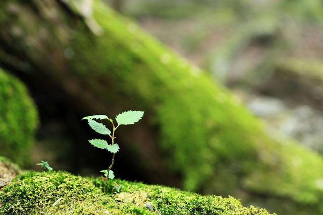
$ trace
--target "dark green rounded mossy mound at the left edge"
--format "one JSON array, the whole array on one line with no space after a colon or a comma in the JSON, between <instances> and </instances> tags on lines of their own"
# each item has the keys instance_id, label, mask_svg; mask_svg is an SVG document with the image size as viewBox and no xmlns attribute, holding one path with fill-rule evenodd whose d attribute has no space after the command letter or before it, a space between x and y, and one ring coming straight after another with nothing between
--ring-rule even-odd
<instances>
[{"instance_id":1,"label":"dark green rounded mossy mound at the left edge","mask_svg":"<svg viewBox=\"0 0 323 215\"><path fill-rule=\"evenodd\" d=\"M25 86L0 68L0 156L28 162L37 112Z\"/></svg>"}]
</instances>

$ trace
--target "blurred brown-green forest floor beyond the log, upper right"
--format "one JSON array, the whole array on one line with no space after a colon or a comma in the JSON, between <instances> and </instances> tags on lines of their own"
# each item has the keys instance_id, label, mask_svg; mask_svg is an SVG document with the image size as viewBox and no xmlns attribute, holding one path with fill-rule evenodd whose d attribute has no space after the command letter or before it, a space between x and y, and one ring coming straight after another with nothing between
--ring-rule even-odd
<instances>
[{"instance_id":1,"label":"blurred brown-green forest floor beyond the log, upper right","mask_svg":"<svg viewBox=\"0 0 323 215\"><path fill-rule=\"evenodd\" d=\"M121 2L271 128L322 152L322 1Z\"/></svg>"}]
</instances>

